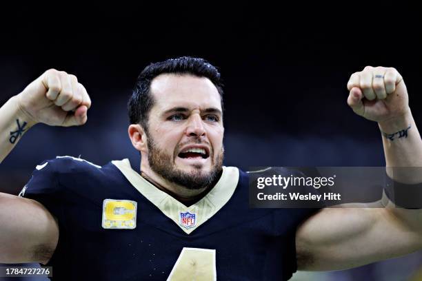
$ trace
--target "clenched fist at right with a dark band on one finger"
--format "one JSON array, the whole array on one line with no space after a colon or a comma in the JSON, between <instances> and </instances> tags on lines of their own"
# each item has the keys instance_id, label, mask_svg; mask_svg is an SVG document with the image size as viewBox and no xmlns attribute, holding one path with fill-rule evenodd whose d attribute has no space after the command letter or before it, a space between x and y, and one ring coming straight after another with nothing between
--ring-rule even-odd
<instances>
[{"instance_id":1,"label":"clenched fist at right with a dark band on one finger","mask_svg":"<svg viewBox=\"0 0 422 281\"><path fill-rule=\"evenodd\" d=\"M348 105L371 121L384 122L408 112L408 90L402 76L392 67L367 66L348 82Z\"/></svg>"}]
</instances>

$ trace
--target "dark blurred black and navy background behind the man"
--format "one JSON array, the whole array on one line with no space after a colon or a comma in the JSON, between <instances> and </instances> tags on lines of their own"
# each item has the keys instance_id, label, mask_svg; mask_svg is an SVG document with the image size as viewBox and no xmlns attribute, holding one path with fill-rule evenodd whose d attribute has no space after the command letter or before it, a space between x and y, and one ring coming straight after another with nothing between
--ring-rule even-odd
<instances>
[{"instance_id":1,"label":"dark blurred black and navy background behind the man","mask_svg":"<svg viewBox=\"0 0 422 281\"><path fill-rule=\"evenodd\" d=\"M0 27L0 103L54 67L77 75L92 108L83 127L36 125L27 132L1 163L2 192L18 194L32 169L57 155L98 165L129 158L139 169L127 134L128 96L143 67L176 56L200 56L219 67L225 165L383 166L378 126L346 103L350 74L365 65L399 70L422 126L422 21L412 6L102 4L41 10L22 5L1 11L9 17L1 18ZM297 273L292 280L421 276L419 252L348 271Z\"/></svg>"}]
</instances>

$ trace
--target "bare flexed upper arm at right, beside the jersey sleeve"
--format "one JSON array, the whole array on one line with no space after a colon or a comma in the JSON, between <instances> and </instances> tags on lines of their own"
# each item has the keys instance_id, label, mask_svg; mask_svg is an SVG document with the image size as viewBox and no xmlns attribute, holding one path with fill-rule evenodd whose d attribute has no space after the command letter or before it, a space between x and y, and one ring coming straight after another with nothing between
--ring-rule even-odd
<instances>
[{"instance_id":1,"label":"bare flexed upper arm at right, beside the jersey sleeve","mask_svg":"<svg viewBox=\"0 0 422 281\"><path fill-rule=\"evenodd\" d=\"M298 269L358 267L416 251L421 241L386 208L325 208L297 230Z\"/></svg>"}]
</instances>

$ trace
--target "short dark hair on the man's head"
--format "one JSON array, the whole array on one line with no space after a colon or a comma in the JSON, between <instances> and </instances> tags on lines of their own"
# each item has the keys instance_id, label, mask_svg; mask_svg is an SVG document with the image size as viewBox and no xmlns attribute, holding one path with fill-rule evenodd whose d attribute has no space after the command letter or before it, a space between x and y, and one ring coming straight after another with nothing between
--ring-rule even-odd
<instances>
[{"instance_id":1,"label":"short dark hair on the man's head","mask_svg":"<svg viewBox=\"0 0 422 281\"><path fill-rule=\"evenodd\" d=\"M223 84L217 68L205 61L205 59L181 56L177 59L151 63L139 74L128 103L128 114L131 124L139 123L143 129L148 131L148 114L152 105L154 105L150 85L155 77L164 73L190 74L210 79L219 91L221 109L223 109Z\"/></svg>"}]
</instances>

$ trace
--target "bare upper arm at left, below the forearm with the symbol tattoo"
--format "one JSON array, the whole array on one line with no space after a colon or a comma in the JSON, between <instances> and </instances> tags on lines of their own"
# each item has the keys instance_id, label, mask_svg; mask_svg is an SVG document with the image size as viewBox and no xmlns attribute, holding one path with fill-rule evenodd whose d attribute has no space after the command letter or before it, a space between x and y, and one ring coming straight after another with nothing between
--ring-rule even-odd
<instances>
[{"instance_id":1,"label":"bare upper arm at left, below the forearm with the symbol tattoo","mask_svg":"<svg viewBox=\"0 0 422 281\"><path fill-rule=\"evenodd\" d=\"M50 260L59 240L59 226L41 203L0 193L0 262Z\"/></svg>"}]
</instances>

